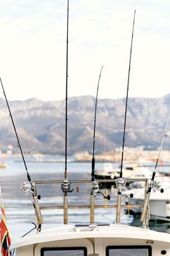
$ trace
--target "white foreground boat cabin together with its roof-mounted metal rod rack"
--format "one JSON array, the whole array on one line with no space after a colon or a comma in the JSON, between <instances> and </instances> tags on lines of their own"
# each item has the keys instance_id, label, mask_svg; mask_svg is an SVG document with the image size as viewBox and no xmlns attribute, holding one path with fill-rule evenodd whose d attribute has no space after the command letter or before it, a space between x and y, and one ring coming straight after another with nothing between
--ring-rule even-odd
<instances>
[{"instance_id":1,"label":"white foreground boat cabin together with its roof-mounted metal rod rack","mask_svg":"<svg viewBox=\"0 0 170 256\"><path fill-rule=\"evenodd\" d=\"M147 183L146 179L140 179ZM36 192L37 187L41 184L56 184L63 185L66 189L66 181L35 181ZM128 225L121 225L119 223L96 223L94 208L105 206L97 206L95 204L95 197L98 195L98 187L96 182L91 184L91 181L70 181L67 184L71 189L71 184L81 184L88 182L93 194L90 195L89 206L72 206L68 203L69 195L63 193L63 206L39 206L37 195L33 197L37 233L18 239L10 246L11 251L16 250L17 256L50 256L50 255L93 255L93 256L111 256L111 255L125 255L125 256L158 256L170 255L170 235L168 233L159 233L157 231L149 230L148 227L131 227ZM23 189L28 189L28 184L23 184ZM92 187L93 186L93 187ZM71 190L70 190L71 191ZM28 192L28 191L27 191ZM144 203L144 202L143 202ZM142 204L143 206L143 204ZM115 211L117 205L108 206ZM128 205L122 204L121 208L127 208ZM131 206L132 207L132 206ZM135 207L135 206L134 206ZM59 227L53 227L47 230L40 230L43 225L41 211L44 209L63 208L63 222ZM77 223L77 225L68 225L68 211L69 209L77 208L83 211L83 208L89 208L89 223ZM114 214L113 214L114 215ZM147 215L146 215L147 218ZM145 219L146 223L147 220Z\"/></svg>"}]
</instances>

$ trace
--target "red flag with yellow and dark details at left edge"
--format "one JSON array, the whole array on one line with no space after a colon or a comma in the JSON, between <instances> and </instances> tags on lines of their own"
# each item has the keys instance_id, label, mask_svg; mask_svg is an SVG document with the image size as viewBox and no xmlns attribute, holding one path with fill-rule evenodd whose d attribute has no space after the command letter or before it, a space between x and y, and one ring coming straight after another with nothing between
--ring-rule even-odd
<instances>
[{"instance_id":1,"label":"red flag with yellow and dark details at left edge","mask_svg":"<svg viewBox=\"0 0 170 256\"><path fill-rule=\"evenodd\" d=\"M9 237L9 231L7 229L7 222L6 222L3 203L1 203L0 233L1 233L1 256L10 256L9 245L11 244L11 240Z\"/></svg>"}]
</instances>

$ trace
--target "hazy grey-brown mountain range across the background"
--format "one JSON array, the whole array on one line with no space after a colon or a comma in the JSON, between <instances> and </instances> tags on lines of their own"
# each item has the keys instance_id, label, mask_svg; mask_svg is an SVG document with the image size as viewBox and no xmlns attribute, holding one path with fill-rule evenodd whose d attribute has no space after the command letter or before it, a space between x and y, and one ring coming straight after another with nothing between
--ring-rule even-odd
<instances>
[{"instance_id":1,"label":"hazy grey-brown mountain range across the background","mask_svg":"<svg viewBox=\"0 0 170 256\"><path fill-rule=\"evenodd\" d=\"M93 150L94 110L92 96L68 99L68 154ZM64 154L65 100L39 99L9 101L20 145L25 153ZM160 98L129 98L125 127L125 146L154 150L161 145L169 116L170 94ZM96 154L114 151L123 143L125 98L98 99L96 116ZM18 152L15 131L7 104L0 98L0 148L9 145ZM166 140L163 148L170 149Z\"/></svg>"}]
</instances>

